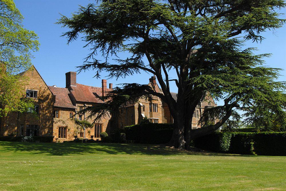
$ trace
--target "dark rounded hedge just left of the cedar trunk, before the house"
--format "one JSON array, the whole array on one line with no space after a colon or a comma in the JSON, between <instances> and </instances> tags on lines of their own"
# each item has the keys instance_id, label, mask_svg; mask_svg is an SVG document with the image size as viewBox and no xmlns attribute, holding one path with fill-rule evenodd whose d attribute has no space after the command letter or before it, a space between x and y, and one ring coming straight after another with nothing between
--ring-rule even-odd
<instances>
[{"instance_id":1,"label":"dark rounded hedge just left of the cedar trunk, before the house","mask_svg":"<svg viewBox=\"0 0 286 191\"><path fill-rule=\"evenodd\" d=\"M124 127L126 140L142 144L164 144L170 141L174 124L147 123Z\"/></svg>"}]
</instances>

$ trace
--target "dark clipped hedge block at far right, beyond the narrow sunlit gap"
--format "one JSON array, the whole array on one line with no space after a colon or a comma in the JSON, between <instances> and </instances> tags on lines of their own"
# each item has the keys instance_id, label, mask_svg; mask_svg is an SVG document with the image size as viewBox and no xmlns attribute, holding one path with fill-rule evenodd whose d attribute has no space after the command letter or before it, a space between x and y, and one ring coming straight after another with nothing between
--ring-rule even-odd
<instances>
[{"instance_id":1,"label":"dark clipped hedge block at far right, beyond the narrow sunlit gap","mask_svg":"<svg viewBox=\"0 0 286 191\"><path fill-rule=\"evenodd\" d=\"M286 156L286 132L255 133L253 140L258 155Z\"/></svg>"}]
</instances>

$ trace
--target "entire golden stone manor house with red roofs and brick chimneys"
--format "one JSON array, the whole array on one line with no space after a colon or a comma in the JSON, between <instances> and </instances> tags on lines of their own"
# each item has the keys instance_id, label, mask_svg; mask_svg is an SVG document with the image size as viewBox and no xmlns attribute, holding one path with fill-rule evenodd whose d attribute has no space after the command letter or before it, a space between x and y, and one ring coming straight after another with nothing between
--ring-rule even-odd
<instances>
[{"instance_id":1,"label":"entire golden stone manor house with red roofs and brick chimneys","mask_svg":"<svg viewBox=\"0 0 286 191\"><path fill-rule=\"evenodd\" d=\"M107 116L100 121L94 121L95 117L88 118L89 113L78 115L77 112L88 107L98 106L104 103L100 96L112 90L112 84L107 88L107 81L102 80L102 87L92 87L76 83L76 72L67 72L66 86L47 86L41 75L32 66L29 70L21 73L28 77L25 87L26 93L23 97L33 99L36 114L29 112L11 112L1 118L0 136L53 136L54 141L73 140L74 136L100 140L100 132L110 134L116 128L138 124L147 117L153 123L172 123L173 118L166 103L156 96L152 101L140 98L137 102L121 108L119 116ZM156 83L156 77L149 79L148 85L156 92L162 93ZM172 93L176 99L176 93ZM210 96L201 98L200 103L194 112L193 128L199 128L199 116L207 107L216 106ZM75 124L74 119L88 120L94 122L93 127L83 129Z\"/></svg>"}]
</instances>

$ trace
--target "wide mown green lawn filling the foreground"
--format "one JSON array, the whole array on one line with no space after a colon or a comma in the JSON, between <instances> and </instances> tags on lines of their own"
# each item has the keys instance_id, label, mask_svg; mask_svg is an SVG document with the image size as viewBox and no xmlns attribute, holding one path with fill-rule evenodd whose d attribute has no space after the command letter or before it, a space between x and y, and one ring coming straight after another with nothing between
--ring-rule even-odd
<instances>
[{"instance_id":1,"label":"wide mown green lawn filling the foreground","mask_svg":"<svg viewBox=\"0 0 286 191\"><path fill-rule=\"evenodd\" d=\"M0 142L0 190L285 190L285 156Z\"/></svg>"}]
</instances>

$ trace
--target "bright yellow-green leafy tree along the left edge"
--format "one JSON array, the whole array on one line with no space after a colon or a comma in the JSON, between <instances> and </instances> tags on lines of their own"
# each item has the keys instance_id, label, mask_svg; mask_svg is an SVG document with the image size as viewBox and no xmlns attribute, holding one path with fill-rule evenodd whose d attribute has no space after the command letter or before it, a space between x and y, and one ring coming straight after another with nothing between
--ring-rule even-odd
<instances>
[{"instance_id":1,"label":"bright yellow-green leafy tree along the left edge","mask_svg":"<svg viewBox=\"0 0 286 191\"><path fill-rule=\"evenodd\" d=\"M31 51L38 50L39 42L22 20L12 0L0 0L0 117L33 107L31 100L21 99L27 78L15 74L31 66Z\"/></svg>"}]
</instances>

